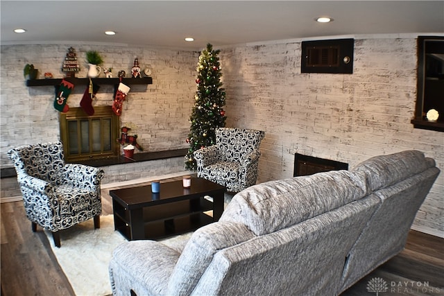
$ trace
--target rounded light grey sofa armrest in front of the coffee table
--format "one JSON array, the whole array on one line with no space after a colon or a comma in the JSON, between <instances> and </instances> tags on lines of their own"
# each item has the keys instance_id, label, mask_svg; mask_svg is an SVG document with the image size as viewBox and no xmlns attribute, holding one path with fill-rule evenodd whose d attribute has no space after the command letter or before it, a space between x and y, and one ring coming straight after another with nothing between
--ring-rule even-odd
<instances>
[{"instance_id":1,"label":"rounded light grey sofa armrest in front of the coffee table","mask_svg":"<svg viewBox=\"0 0 444 296\"><path fill-rule=\"evenodd\" d=\"M130 241L112 253L109 272L113 295L165 295L180 253L157 241Z\"/></svg>"}]
</instances>

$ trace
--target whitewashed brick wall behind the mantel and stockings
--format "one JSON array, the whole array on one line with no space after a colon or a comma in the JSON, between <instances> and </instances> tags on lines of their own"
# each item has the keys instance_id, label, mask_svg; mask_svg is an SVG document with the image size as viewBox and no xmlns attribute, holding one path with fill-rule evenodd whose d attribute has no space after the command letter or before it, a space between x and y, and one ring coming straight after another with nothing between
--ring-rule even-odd
<instances>
[{"instance_id":1,"label":"whitewashed brick wall behind the mantel and stockings","mask_svg":"<svg viewBox=\"0 0 444 296\"><path fill-rule=\"evenodd\" d=\"M131 89L123 102L121 126L132 128L129 134L137 134L145 151L188 148L185 139L196 91L198 52L76 44L1 46L1 167L11 166L6 156L10 147L59 139L60 113L53 107L54 87L26 87L23 68L32 63L40 78L44 72L62 78L65 73L60 68L70 46L76 49L81 67L78 78L87 76L85 52L89 50L101 53L103 66L112 67L113 77L119 70L129 77L136 57L142 69L148 65L153 84L128 85ZM101 73L100 77L105 76ZM86 87L74 86L67 100L70 107L80 107ZM93 106L112 105L113 93L113 85L101 85Z\"/></svg>"}]
</instances>

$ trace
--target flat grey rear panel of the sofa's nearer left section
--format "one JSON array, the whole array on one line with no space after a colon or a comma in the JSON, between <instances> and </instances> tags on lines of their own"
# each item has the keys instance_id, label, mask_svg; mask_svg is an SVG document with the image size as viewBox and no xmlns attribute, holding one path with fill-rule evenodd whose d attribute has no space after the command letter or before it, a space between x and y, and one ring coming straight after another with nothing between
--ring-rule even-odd
<instances>
[{"instance_id":1,"label":"flat grey rear panel of the sofa's nearer left section","mask_svg":"<svg viewBox=\"0 0 444 296\"><path fill-rule=\"evenodd\" d=\"M368 196L220 250L191 295L338 295L345 256L378 202Z\"/></svg>"}]
</instances>

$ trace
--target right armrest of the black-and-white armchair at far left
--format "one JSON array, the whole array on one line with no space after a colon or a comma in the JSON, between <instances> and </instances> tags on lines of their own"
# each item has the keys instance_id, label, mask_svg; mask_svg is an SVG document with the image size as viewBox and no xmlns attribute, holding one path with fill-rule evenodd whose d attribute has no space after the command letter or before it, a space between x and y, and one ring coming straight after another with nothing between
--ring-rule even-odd
<instances>
[{"instance_id":1,"label":"right armrest of the black-and-white armchair at far left","mask_svg":"<svg viewBox=\"0 0 444 296\"><path fill-rule=\"evenodd\" d=\"M71 186L96 191L105 174L101 168L83 164L65 164L66 182Z\"/></svg>"}]
</instances>

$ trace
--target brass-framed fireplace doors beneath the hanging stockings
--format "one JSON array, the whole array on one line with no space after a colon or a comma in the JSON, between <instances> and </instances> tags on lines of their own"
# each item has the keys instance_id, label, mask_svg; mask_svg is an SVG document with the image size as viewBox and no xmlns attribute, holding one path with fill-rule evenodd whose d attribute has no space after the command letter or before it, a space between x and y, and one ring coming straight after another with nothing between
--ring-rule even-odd
<instances>
[{"instance_id":1,"label":"brass-framed fireplace doors beneath the hanging stockings","mask_svg":"<svg viewBox=\"0 0 444 296\"><path fill-rule=\"evenodd\" d=\"M119 155L119 118L111 106L94 107L88 116L81 108L60 114L60 138L67 162Z\"/></svg>"}]
</instances>

